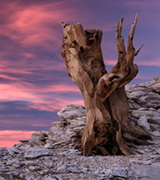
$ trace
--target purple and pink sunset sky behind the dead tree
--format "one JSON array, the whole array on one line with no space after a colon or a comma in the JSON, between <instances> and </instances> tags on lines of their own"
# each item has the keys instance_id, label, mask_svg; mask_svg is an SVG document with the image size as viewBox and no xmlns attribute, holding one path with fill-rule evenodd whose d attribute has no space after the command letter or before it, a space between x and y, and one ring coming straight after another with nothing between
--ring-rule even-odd
<instances>
[{"instance_id":1,"label":"purple and pink sunset sky behind the dead tree","mask_svg":"<svg viewBox=\"0 0 160 180\"><path fill-rule=\"evenodd\" d=\"M83 104L68 76L61 45L61 22L102 29L107 71L117 62L116 22L124 17L127 44L135 14L137 77L129 84L160 77L159 0L1 0L0 1L0 147L49 131L67 104Z\"/></svg>"}]
</instances>

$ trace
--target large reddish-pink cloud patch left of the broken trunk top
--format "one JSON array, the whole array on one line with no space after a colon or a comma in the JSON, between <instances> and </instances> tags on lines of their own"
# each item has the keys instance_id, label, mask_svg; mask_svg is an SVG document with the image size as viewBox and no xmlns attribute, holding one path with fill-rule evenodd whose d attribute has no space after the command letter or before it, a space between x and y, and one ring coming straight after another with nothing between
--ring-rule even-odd
<instances>
[{"instance_id":1,"label":"large reddish-pink cloud patch left of the broken trunk top","mask_svg":"<svg viewBox=\"0 0 160 180\"><path fill-rule=\"evenodd\" d=\"M67 6L68 2L52 2L41 5L21 6L18 3L5 4L12 15L7 14L7 23L1 26L0 33L21 43L23 46L42 46L45 49L58 50L62 42L61 22L73 21L80 14ZM74 14L74 16L73 16ZM87 16L86 16L87 18ZM50 47L48 42L54 42Z\"/></svg>"}]
</instances>

